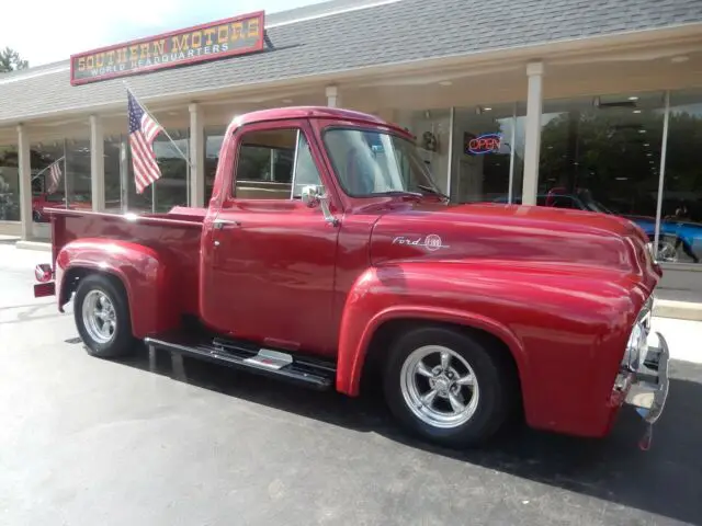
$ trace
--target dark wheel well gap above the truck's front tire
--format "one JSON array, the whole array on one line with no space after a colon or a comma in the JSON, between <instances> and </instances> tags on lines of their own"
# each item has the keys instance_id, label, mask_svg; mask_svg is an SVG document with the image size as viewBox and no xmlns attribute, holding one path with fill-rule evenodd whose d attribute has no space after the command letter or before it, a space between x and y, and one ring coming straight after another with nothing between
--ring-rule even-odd
<instances>
[{"instance_id":1,"label":"dark wheel well gap above the truck's front tire","mask_svg":"<svg viewBox=\"0 0 702 526\"><path fill-rule=\"evenodd\" d=\"M412 318L403 318L397 320L389 320L377 328L373 334L373 339L369 344L367 352L365 354L365 361L363 364L363 371L361 380L365 384L369 378L376 378L382 373L382 365L384 357L392 346L393 342L398 334L403 334L412 329L419 327L441 327L444 329L453 329L455 331L465 334L474 340L477 340L486 348L492 350L498 357L503 370L509 375L510 380L513 382L517 396L520 398L519 403L521 405L521 380L519 378L519 369L514 356L509 346L495 334L473 327L462 325L458 323L438 322ZM373 382L375 384L375 382Z\"/></svg>"}]
</instances>

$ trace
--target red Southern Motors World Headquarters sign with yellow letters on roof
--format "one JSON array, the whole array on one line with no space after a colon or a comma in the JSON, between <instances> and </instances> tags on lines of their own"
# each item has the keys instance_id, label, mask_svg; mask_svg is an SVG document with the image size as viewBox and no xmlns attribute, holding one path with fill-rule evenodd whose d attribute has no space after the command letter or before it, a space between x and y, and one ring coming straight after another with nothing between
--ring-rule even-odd
<instances>
[{"instance_id":1,"label":"red Southern Motors World Headquarters sign with yellow letters on roof","mask_svg":"<svg viewBox=\"0 0 702 526\"><path fill-rule=\"evenodd\" d=\"M140 38L70 57L70 83L84 84L263 49L263 12Z\"/></svg>"}]
</instances>

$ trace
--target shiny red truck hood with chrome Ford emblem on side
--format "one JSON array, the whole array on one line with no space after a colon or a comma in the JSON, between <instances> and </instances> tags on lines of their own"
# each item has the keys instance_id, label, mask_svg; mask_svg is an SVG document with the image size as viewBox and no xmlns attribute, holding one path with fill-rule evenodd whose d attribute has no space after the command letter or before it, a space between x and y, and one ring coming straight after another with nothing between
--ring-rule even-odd
<instances>
[{"instance_id":1,"label":"shiny red truck hood with chrome Ford emblem on side","mask_svg":"<svg viewBox=\"0 0 702 526\"><path fill-rule=\"evenodd\" d=\"M632 221L590 211L500 204L404 204L382 215L371 261L475 261L480 264L591 267L636 274L653 288L660 271L648 238Z\"/></svg>"}]
</instances>

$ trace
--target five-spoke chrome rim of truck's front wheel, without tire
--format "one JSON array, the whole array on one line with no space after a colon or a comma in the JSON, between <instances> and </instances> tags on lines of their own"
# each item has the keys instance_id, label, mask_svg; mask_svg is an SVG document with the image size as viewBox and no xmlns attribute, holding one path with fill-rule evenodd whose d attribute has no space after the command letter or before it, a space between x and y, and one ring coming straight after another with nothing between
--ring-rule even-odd
<instances>
[{"instance_id":1,"label":"five-spoke chrome rim of truck's front wheel, without tire","mask_svg":"<svg viewBox=\"0 0 702 526\"><path fill-rule=\"evenodd\" d=\"M480 391L466 359L441 345L427 345L407 356L400 371L407 407L422 422L440 428L458 427L478 407Z\"/></svg>"}]
</instances>

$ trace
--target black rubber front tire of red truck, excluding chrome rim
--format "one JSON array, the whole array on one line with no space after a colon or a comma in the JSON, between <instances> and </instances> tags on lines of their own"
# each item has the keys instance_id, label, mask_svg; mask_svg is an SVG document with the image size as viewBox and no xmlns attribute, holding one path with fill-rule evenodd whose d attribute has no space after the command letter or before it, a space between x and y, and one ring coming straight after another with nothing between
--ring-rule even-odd
<instances>
[{"instance_id":1,"label":"black rubber front tire of red truck, excluding chrome rim","mask_svg":"<svg viewBox=\"0 0 702 526\"><path fill-rule=\"evenodd\" d=\"M475 412L455 427L439 427L421 420L403 393L403 365L414 351L427 345L440 345L457 353L477 379L479 396ZM423 327L403 334L389 350L384 374L385 398L390 411L404 427L434 444L463 448L485 443L506 423L517 402L514 375L501 351L491 348L489 340L450 328Z\"/></svg>"}]
</instances>

